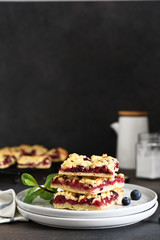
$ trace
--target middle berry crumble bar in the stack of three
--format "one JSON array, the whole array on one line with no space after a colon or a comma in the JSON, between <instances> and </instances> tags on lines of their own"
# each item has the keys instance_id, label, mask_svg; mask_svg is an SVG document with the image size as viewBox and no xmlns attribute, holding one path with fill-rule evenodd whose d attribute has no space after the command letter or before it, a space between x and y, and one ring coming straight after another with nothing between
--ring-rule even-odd
<instances>
[{"instance_id":1,"label":"middle berry crumble bar in the stack of three","mask_svg":"<svg viewBox=\"0 0 160 240\"><path fill-rule=\"evenodd\" d=\"M124 182L125 179L123 174L118 174L111 178L60 175L54 177L51 187L61 188L65 191L75 193L98 194L114 188L121 188L123 187Z\"/></svg>"}]
</instances>

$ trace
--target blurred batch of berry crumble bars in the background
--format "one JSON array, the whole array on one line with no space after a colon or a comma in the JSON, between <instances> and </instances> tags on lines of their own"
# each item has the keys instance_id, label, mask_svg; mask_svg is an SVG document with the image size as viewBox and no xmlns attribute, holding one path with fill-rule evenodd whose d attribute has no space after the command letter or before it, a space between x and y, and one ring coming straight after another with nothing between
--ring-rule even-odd
<instances>
[{"instance_id":1,"label":"blurred batch of berry crumble bars in the background","mask_svg":"<svg viewBox=\"0 0 160 240\"><path fill-rule=\"evenodd\" d=\"M63 162L68 157L68 151L63 148L48 150L42 145L22 144L20 146L0 149L0 169L17 164L18 168L47 169L54 162Z\"/></svg>"}]
</instances>

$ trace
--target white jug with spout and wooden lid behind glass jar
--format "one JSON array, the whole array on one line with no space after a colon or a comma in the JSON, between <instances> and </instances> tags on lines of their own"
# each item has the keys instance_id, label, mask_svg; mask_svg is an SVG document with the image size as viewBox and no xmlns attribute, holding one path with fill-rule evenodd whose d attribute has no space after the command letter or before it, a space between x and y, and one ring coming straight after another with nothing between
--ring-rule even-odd
<instances>
[{"instance_id":1,"label":"white jug with spout and wooden lid behind glass jar","mask_svg":"<svg viewBox=\"0 0 160 240\"><path fill-rule=\"evenodd\" d=\"M136 168L136 143L138 134L149 131L148 113L139 111L119 111L118 122L111 128L117 133L117 154L119 167Z\"/></svg>"}]
</instances>

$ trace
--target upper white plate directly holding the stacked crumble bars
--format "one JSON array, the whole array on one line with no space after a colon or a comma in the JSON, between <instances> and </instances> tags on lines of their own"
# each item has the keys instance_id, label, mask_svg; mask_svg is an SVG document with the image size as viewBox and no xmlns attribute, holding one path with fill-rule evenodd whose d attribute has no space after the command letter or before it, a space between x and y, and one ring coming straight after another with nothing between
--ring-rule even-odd
<instances>
[{"instance_id":1,"label":"upper white plate directly holding the stacked crumble bars","mask_svg":"<svg viewBox=\"0 0 160 240\"><path fill-rule=\"evenodd\" d=\"M91 218L91 219L110 218L136 214L151 208L157 201L157 194L148 188L133 184L125 184L123 189L124 196L126 197L129 197L131 191L134 189L138 189L141 192L142 197L138 201L132 200L131 205L129 206L115 205L112 208L103 211L73 211L67 209L54 209L54 207L49 203L49 201L40 198L37 198L33 204L26 204L23 202L26 190L17 194L16 201L20 208L35 214L62 218L66 217L66 218Z\"/></svg>"}]
</instances>

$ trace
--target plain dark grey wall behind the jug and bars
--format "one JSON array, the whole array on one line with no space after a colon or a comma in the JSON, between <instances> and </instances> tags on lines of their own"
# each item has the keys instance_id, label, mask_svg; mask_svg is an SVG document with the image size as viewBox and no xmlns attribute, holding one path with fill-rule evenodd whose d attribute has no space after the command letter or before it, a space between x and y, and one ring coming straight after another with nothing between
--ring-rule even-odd
<instances>
[{"instance_id":1,"label":"plain dark grey wall behind the jug and bars","mask_svg":"<svg viewBox=\"0 0 160 240\"><path fill-rule=\"evenodd\" d=\"M0 3L0 147L115 155L118 110L160 127L160 3Z\"/></svg>"}]
</instances>

